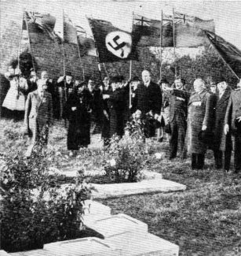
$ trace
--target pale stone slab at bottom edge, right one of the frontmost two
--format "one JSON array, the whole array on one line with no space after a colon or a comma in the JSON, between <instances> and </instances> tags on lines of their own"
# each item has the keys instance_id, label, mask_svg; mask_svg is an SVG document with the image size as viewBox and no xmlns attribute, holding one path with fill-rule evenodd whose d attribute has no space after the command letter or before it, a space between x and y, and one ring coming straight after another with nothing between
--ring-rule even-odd
<instances>
[{"instance_id":1,"label":"pale stone slab at bottom edge, right one of the frontmost two","mask_svg":"<svg viewBox=\"0 0 241 256\"><path fill-rule=\"evenodd\" d=\"M176 244L150 233L147 236L130 236L122 233L109 237L106 241L121 249L123 256L178 256L179 254L179 247Z\"/></svg>"}]
</instances>

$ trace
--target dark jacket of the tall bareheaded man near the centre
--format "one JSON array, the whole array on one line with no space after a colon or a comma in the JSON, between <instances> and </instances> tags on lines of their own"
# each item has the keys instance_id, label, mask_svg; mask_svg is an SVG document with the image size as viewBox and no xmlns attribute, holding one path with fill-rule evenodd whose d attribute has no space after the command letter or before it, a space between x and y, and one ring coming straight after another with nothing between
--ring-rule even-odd
<instances>
[{"instance_id":1,"label":"dark jacket of the tall bareheaded man near the centre","mask_svg":"<svg viewBox=\"0 0 241 256\"><path fill-rule=\"evenodd\" d=\"M151 81L148 87L144 83L138 85L136 90L137 109L145 114L152 110L152 113L160 114L162 109L162 91L158 84Z\"/></svg>"}]
</instances>

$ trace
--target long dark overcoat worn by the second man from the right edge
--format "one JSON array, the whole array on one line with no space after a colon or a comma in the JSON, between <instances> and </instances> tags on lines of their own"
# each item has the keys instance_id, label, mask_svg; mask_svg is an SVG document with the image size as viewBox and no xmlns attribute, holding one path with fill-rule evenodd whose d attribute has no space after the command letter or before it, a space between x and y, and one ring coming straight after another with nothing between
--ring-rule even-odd
<instances>
[{"instance_id":1,"label":"long dark overcoat worn by the second man from the right edge","mask_svg":"<svg viewBox=\"0 0 241 256\"><path fill-rule=\"evenodd\" d=\"M228 101L232 93L231 87L227 87L221 98L216 95L215 106L215 121L214 121L214 150L225 151L227 147L231 147L230 133L225 135L225 113L228 106Z\"/></svg>"}]
</instances>

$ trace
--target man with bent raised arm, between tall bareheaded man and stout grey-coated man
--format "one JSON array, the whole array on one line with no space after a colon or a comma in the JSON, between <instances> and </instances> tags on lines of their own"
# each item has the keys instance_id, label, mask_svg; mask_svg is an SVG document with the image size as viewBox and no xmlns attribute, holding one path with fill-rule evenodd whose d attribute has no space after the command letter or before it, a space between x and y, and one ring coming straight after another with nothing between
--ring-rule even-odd
<instances>
[{"instance_id":1,"label":"man with bent raised arm, between tall bareheaded man and stout grey-coated man","mask_svg":"<svg viewBox=\"0 0 241 256\"><path fill-rule=\"evenodd\" d=\"M175 80L176 88L167 87L170 91L170 159L176 158L178 143L181 157L184 157L184 141L187 130L189 93L184 91L184 80Z\"/></svg>"}]
</instances>

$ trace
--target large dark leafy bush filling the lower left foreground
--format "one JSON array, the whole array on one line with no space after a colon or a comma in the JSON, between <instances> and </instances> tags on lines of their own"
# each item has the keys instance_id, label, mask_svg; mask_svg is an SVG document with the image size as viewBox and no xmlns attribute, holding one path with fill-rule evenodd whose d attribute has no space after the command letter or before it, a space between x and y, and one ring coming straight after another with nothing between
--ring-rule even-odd
<instances>
[{"instance_id":1,"label":"large dark leafy bush filling the lower left foreground","mask_svg":"<svg viewBox=\"0 0 241 256\"><path fill-rule=\"evenodd\" d=\"M44 243L79 236L83 201L91 187L75 184L64 191L58 175L49 175L53 152L36 146L31 158L1 155L1 248L6 251L41 248Z\"/></svg>"}]
</instances>

